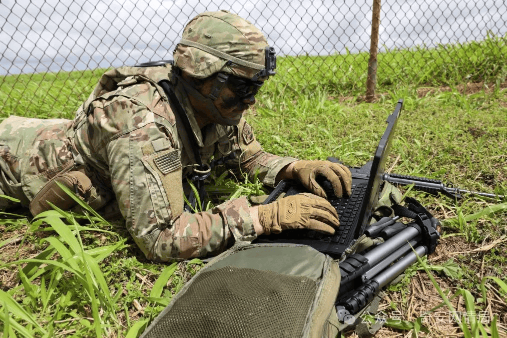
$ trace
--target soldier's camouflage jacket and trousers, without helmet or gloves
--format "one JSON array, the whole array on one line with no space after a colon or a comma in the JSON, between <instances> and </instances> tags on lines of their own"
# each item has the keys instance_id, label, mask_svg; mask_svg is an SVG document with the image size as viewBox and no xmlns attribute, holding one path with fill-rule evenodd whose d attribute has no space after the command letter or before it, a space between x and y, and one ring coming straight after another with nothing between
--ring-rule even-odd
<instances>
[{"instance_id":1,"label":"soldier's camouflage jacket and trousers, without helmet or gloves","mask_svg":"<svg viewBox=\"0 0 507 338\"><path fill-rule=\"evenodd\" d=\"M156 261L213 255L234 240L255 239L244 197L206 212L183 212L182 179L195 161L178 136L174 103L157 84L162 79L171 79L170 66L122 67L101 77L74 121L6 119L0 124L0 152L14 180L3 170L0 188L27 206L56 174L86 167L103 201L114 193L135 242ZM273 186L279 170L296 160L264 152L244 119L201 131L182 88L175 89L204 163L238 151L227 165L258 173ZM160 159L169 170L160 168Z\"/></svg>"}]
</instances>

